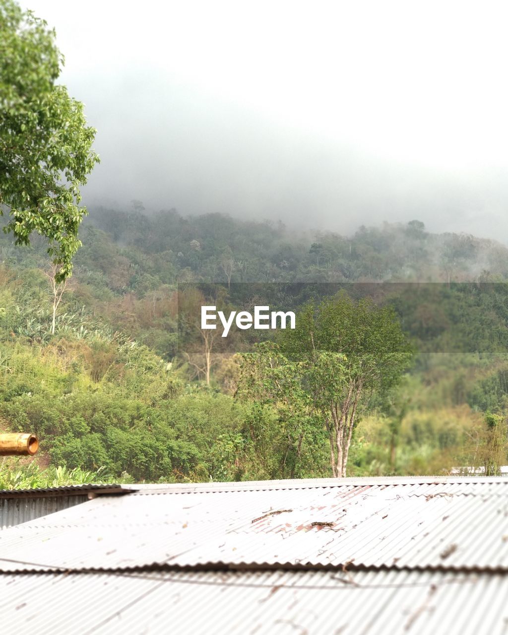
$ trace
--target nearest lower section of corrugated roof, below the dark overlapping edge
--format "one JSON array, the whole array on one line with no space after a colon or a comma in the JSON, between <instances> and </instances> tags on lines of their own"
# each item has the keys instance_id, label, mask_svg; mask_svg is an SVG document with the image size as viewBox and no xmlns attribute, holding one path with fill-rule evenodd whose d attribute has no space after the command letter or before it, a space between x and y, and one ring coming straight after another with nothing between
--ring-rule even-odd
<instances>
[{"instance_id":1,"label":"nearest lower section of corrugated roof, below the dark overlapping edge","mask_svg":"<svg viewBox=\"0 0 508 635\"><path fill-rule=\"evenodd\" d=\"M20 635L500 635L507 596L485 573L0 575L2 631Z\"/></svg>"}]
</instances>

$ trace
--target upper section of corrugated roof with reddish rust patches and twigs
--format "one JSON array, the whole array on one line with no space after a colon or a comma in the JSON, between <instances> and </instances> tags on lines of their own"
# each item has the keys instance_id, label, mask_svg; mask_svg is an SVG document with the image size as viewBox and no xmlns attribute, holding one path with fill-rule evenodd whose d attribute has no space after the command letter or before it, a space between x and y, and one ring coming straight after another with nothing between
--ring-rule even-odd
<instances>
[{"instance_id":1,"label":"upper section of corrugated roof with reddish rust patches and twigs","mask_svg":"<svg viewBox=\"0 0 508 635\"><path fill-rule=\"evenodd\" d=\"M505 479L154 491L102 496L1 532L0 570L352 561L508 571Z\"/></svg>"}]
</instances>

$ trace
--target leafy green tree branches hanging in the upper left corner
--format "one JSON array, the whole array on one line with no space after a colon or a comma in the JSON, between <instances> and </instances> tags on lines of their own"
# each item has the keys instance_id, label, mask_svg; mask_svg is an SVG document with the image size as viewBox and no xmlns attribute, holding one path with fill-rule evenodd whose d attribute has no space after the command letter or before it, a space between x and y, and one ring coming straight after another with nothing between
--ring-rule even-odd
<instances>
[{"instance_id":1,"label":"leafy green tree branches hanging in the upper left corner","mask_svg":"<svg viewBox=\"0 0 508 635\"><path fill-rule=\"evenodd\" d=\"M58 279L72 272L86 209L79 187L98 156L83 104L56 83L64 58L55 31L13 0L0 0L0 211L16 244L45 236Z\"/></svg>"}]
</instances>

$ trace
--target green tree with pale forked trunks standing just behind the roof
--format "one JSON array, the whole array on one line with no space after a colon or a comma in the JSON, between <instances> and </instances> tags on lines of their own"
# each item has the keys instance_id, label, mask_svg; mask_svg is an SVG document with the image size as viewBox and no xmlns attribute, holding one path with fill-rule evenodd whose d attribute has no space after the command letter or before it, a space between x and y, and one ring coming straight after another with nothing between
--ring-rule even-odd
<instances>
[{"instance_id":1,"label":"green tree with pale forked trunks standing just behind the roof","mask_svg":"<svg viewBox=\"0 0 508 635\"><path fill-rule=\"evenodd\" d=\"M411 359L411 346L391 307L345 294L307 305L296 330L277 344L243 354L241 385L276 405L297 458L316 428L330 442L333 476L346 476L352 434L366 395L391 388Z\"/></svg>"}]
</instances>

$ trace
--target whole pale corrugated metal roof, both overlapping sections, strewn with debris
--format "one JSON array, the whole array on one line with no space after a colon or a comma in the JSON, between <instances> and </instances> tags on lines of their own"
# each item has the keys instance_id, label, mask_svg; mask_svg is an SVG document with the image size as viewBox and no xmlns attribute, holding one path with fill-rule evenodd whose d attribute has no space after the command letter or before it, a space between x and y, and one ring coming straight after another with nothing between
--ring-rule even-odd
<instances>
[{"instance_id":1,"label":"whole pale corrugated metal roof, both overlapping sections, strewn with debris","mask_svg":"<svg viewBox=\"0 0 508 635\"><path fill-rule=\"evenodd\" d=\"M508 479L123 489L0 531L3 625L309 635L505 627ZM76 630L81 605L94 610L83 608Z\"/></svg>"}]
</instances>

